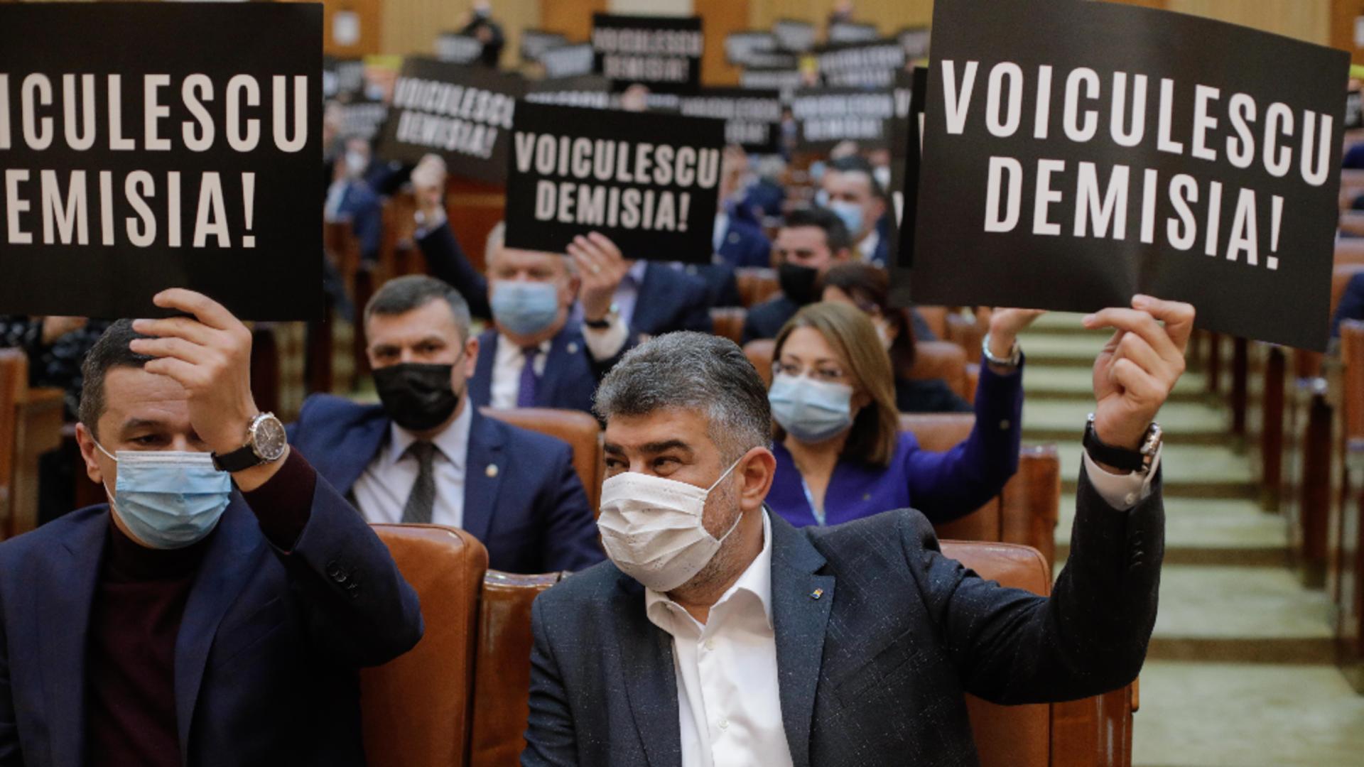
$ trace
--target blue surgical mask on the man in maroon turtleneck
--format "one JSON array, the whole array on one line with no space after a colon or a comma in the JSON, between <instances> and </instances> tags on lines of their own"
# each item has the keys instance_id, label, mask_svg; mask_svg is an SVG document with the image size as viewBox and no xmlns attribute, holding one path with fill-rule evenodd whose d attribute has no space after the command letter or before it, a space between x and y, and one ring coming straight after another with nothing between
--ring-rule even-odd
<instances>
[{"instance_id":1,"label":"blue surgical mask on the man in maroon turtleneck","mask_svg":"<svg viewBox=\"0 0 1364 767\"><path fill-rule=\"evenodd\" d=\"M95 448L109 456L104 445ZM153 549L203 540L232 500L232 476L214 468L209 453L119 450L109 457L119 464L113 513Z\"/></svg>"}]
</instances>

